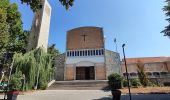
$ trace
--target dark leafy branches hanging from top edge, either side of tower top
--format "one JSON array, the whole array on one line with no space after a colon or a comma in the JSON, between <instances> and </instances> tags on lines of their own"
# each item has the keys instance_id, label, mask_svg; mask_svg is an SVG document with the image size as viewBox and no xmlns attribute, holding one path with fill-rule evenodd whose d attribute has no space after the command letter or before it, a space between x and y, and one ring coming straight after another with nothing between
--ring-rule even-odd
<instances>
[{"instance_id":1,"label":"dark leafy branches hanging from top edge, either side of tower top","mask_svg":"<svg viewBox=\"0 0 170 100\"><path fill-rule=\"evenodd\" d=\"M41 7L41 0L21 0L21 2L30 5L30 8L34 12ZM73 6L74 0L59 0L59 2L61 2L66 9L69 9L69 7Z\"/></svg>"}]
</instances>

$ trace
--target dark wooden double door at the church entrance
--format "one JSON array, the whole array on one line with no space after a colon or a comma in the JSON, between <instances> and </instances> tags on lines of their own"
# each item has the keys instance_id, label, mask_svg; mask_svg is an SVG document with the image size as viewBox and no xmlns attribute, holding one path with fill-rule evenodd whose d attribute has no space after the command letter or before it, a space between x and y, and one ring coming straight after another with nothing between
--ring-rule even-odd
<instances>
[{"instance_id":1,"label":"dark wooden double door at the church entrance","mask_svg":"<svg viewBox=\"0 0 170 100\"><path fill-rule=\"evenodd\" d=\"M94 80L94 66L76 67L76 80Z\"/></svg>"}]
</instances>

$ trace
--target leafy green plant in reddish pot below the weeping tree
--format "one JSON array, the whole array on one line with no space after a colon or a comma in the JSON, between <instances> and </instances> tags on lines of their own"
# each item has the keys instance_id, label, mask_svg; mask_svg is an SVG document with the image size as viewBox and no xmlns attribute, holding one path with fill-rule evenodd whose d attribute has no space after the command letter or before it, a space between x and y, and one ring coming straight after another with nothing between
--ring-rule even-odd
<instances>
[{"instance_id":1,"label":"leafy green plant in reddish pot below the weeping tree","mask_svg":"<svg viewBox=\"0 0 170 100\"><path fill-rule=\"evenodd\" d=\"M14 74L11 77L9 83L9 91L7 92L7 100L17 100L17 96L19 91L21 90L22 82L21 82L21 75L20 73Z\"/></svg>"}]
</instances>

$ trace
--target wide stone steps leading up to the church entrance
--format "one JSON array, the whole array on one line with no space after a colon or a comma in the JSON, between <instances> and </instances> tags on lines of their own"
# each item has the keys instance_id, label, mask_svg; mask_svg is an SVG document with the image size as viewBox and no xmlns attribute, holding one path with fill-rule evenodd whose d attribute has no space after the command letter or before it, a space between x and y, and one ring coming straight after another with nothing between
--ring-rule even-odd
<instances>
[{"instance_id":1,"label":"wide stone steps leading up to the church entrance","mask_svg":"<svg viewBox=\"0 0 170 100\"><path fill-rule=\"evenodd\" d=\"M107 90L107 80L56 81L48 90Z\"/></svg>"}]
</instances>

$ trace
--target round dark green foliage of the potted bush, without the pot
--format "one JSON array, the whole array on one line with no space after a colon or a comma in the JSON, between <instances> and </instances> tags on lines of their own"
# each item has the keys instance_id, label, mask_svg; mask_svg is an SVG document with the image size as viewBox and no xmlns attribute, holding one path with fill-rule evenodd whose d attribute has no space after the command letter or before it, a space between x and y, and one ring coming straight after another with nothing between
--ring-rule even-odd
<instances>
[{"instance_id":1,"label":"round dark green foliage of the potted bush, without the pot","mask_svg":"<svg viewBox=\"0 0 170 100\"><path fill-rule=\"evenodd\" d=\"M108 76L108 84L111 90L122 88L122 77L115 73Z\"/></svg>"}]
</instances>

